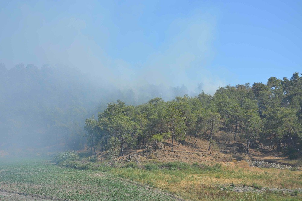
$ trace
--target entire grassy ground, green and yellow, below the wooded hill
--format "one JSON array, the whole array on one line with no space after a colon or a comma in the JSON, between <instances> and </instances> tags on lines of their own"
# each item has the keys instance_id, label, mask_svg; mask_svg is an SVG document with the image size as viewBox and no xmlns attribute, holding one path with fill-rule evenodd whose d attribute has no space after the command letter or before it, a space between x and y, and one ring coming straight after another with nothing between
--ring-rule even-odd
<instances>
[{"instance_id":1,"label":"entire grassy ground, green and yellow, below the wooded hill","mask_svg":"<svg viewBox=\"0 0 302 201\"><path fill-rule=\"evenodd\" d=\"M63 161L59 165L72 168L61 168L41 159L0 159L0 189L72 200L172 199L167 193L118 178L121 177L190 200L302 200L300 193L233 191L239 186L250 186L255 190L263 187L302 188L301 172L252 168L245 162L230 164L190 165L151 160L111 167L90 162L87 158Z\"/></svg>"}]
</instances>

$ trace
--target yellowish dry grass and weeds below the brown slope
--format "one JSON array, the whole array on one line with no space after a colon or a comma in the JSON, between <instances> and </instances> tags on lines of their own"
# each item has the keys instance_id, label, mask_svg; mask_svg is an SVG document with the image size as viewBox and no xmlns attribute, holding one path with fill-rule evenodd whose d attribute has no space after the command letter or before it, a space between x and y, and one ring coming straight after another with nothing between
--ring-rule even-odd
<instances>
[{"instance_id":1,"label":"yellowish dry grass and weeds below the brown slope","mask_svg":"<svg viewBox=\"0 0 302 201\"><path fill-rule=\"evenodd\" d=\"M236 186L253 187L254 189L302 187L302 173L291 170L252 168L245 161L234 163L232 168L221 163L204 164L194 162L156 162L149 160L143 163L89 162L87 158L73 161L72 165L61 162L59 165L75 168L74 164L82 163L87 169L108 172L117 177L137 181L150 187L161 188L191 200L300 200L302 195L293 193L234 192Z\"/></svg>"}]
</instances>

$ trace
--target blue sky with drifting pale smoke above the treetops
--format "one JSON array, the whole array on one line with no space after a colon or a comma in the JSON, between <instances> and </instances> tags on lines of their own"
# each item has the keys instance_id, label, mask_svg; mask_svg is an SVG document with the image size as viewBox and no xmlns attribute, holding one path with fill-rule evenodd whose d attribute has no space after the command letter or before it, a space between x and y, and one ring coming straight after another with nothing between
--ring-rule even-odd
<instances>
[{"instance_id":1,"label":"blue sky with drifting pale smoke above the treetops","mask_svg":"<svg viewBox=\"0 0 302 201\"><path fill-rule=\"evenodd\" d=\"M302 72L302 1L1 1L0 27L7 68L68 65L121 88Z\"/></svg>"}]
</instances>

